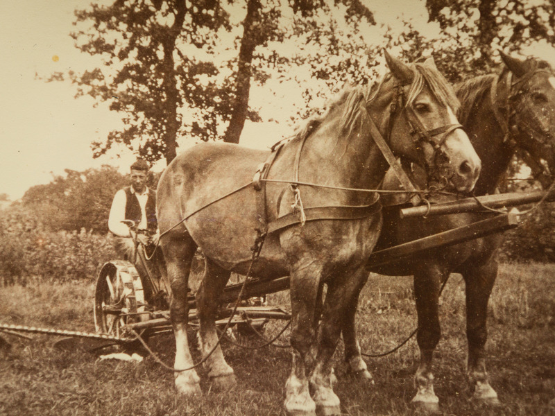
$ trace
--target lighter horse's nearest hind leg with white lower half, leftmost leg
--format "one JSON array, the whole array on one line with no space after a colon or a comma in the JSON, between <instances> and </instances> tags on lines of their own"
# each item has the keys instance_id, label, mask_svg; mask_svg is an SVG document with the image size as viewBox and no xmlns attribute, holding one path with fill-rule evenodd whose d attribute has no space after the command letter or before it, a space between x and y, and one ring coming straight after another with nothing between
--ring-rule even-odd
<instances>
[{"instance_id":1,"label":"lighter horse's nearest hind leg with white lower half, leftmost leg","mask_svg":"<svg viewBox=\"0 0 555 416\"><path fill-rule=\"evenodd\" d=\"M196 244L188 234L173 232L161 241L166 259L166 270L171 288L170 318L173 333L176 336L176 370L185 370L193 366L189 344L187 343L187 320L189 304L187 302L187 281L191 260L196 251ZM176 388L184 395L200 394L200 379L194 369L176 372Z\"/></svg>"}]
</instances>

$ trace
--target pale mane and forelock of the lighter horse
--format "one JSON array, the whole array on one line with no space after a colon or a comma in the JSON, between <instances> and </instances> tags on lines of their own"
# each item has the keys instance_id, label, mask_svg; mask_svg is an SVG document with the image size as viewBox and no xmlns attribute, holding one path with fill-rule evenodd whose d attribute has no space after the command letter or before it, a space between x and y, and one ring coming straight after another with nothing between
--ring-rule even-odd
<instances>
[{"instance_id":1,"label":"pale mane and forelock of the lighter horse","mask_svg":"<svg viewBox=\"0 0 555 416\"><path fill-rule=\"evenodd\" d=\"M459 99L456 98L452 87L447 80L436 69L427 67L421 63L409 64L413 69L414 78L411 83L406 105L409 106L422 92L425 85L429 86L430 91L440 103L449 106L456 113L459 110ZM341 129L352 132L357 121L361 116L361 104L367 105L379 94L384 83L393 78L388 73L377 83L370 83L361 87L346 87L341 94L327 106L327 111L322 116L313 116L297 130L293 139L305 139L316 130L323 121L337 109L341 107Z\"/></svg>"}]
</instances>

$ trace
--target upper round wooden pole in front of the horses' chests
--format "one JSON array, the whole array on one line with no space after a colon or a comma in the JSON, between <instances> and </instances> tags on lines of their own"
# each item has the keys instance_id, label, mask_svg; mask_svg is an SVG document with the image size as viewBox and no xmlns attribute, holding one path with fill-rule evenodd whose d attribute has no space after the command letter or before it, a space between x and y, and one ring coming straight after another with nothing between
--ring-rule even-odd
<instances>
[{"instance_id":1,"label":"upper round wooden pole in front of the horses' chests","mask_svg":"<svg viewBox=\"0 0 555 416\"><path fill-rule=\"evenodd\" d=\"M538 202L544 196L544 191L527 193L496 193L495 195L478 196L476 198L464 198L450 202L438 202L437 204L432 204L429 207L427 205L420 205L418 207L404 208L400 209L400 216L401 218L411 218L417 216L461 214L462 212L483 210L484 206L495 209L503 207L515 207L517 205ZM547 196L546 200L555 200L555 192L550 193L549 196Z\"/></svg>"}]
</instances>

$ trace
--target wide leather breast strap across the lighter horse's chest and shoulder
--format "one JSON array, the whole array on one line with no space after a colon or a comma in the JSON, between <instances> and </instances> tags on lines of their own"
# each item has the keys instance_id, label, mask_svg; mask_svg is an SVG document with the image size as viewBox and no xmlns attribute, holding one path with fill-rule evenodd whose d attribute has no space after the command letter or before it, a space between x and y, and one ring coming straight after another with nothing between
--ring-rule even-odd
<instances>
[{"instance_id":1,"label":"wide leather breast strap across the lighter horse's chest and shoulder","mask_svg":"<svg viewBox=\"0 0 555 416\"><path fill-rule=\"evenodd\" d=\"M375 194L375 199L370 205L339 205L330 207L311 207L305 208L306 221L314 220L360 220L369 218L377 214L382 209L379 195ZM297 212L293 211L284 216L280 216L268 224L268 234L280 229L300 224L301 220Z\"/></svg>"}]
</instances>

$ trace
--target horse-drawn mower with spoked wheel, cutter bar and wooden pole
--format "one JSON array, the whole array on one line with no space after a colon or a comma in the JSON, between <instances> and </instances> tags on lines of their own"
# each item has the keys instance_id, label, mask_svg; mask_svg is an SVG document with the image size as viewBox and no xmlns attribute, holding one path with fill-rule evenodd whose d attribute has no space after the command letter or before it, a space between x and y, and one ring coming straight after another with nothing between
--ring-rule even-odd
<instances>
[{"instance_id":1,"label":"horse-drawn mower with spoked wheel, cutter bar and wooden pole","mask_svg":"<svg viewBox=\"0 0 555 416\"><path fill-rule=\"evenodd\" d=\"M446 202L430 205L420 205L399 210L402 218L411 216L434 216L441 214L456 214L471 210L484 210L485 208L513 207L516 205L554 200L554 193L504 193L494 196L478 198L465 198L455 202ZM506 229L517 227L518 214L506 213L489 215L489 218L477 223L465 225L447 232L427 236L423 239L411 241L392 248L373 252L366 263L368 271L393 263L405 257L438 250L450 245L481 237L504 232ZM202 263L200 256L196 257ZM149 299L145 299L145 286L153 289ZM49 333L56 336L89 338L96 340L94 349L103 345L125 345L136 343L139 334L144 339L162 333L171 332L169 320L169 293L161 282L153 281L152 276L139 276L137 269L130 261L112 260L105 263L96 279L94 292L94 327L96 333L83 331L67 331L63 329L44 329L37 327L24 327L22 325L0 324L0 331ZM244 286L244 287L243 287ZM260 328L268 320L289 320L291 314L286 306L266 306L262 302L253 302L260 297L277 293L289 288L289 277L278 279L250 279L246 284L238 282L225 287L221 297L219 311L220 326L241 324L243 327ZM241 293L241 302L236 313L230 319L233 305ZM189 292L189 322L195 324L196 309L194 293ZM100 343L99 343L100 341ZM61 342L60 345L67 346Z\"/></svg>"}]
</instances>

